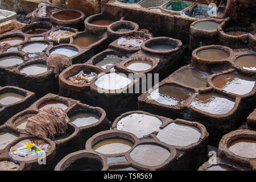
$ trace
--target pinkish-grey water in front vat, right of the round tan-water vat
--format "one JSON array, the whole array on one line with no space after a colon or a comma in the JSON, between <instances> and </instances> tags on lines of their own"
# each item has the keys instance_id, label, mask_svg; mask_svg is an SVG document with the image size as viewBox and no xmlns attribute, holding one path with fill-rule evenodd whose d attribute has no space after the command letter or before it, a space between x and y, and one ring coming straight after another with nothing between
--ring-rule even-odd
<instances>
[{"instance_id":1,"label":"pinkish-grey water in front vat, right of the round tan-water vat","mask_svg":"<svg viewBox=\"0 0 256 182\"><path fill-rule=\"evenodd\" d=\"M154 144L140 144L130 152L131 159L146 166L158 166L170 155L166 148Z\"/></svg>"}]
</instances>

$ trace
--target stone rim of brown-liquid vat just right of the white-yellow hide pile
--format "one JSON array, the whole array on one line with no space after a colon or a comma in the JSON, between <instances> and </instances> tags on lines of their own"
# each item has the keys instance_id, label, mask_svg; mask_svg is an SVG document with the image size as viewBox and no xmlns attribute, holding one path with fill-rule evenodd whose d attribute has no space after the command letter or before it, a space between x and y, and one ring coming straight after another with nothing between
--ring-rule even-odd
<instances>
[{"instance_id":1,"label":"stone rim of brown-liquid vat just right of the white-yellow hide pile","mask_svg":"<svg viewBox=\"0 0 256 182\"><path fill-rule=\"evenodd\" d=\"M70 42L69 42L69 43L75 45L75 44L74 44L75 39L76 39L76 38L80 38L80 37L83 36L83 35L98 36L100 39L97 40L97 42L95 42L95 43L93 43L93 44L90 44L90 45L87 46L87 47L80 47L80 46L78 46L78 47L80 47L80 48L82 48L82 49L90 49L90 48L92 48L92 47L97 46L97 45L100 44L101 42L104 42L104 40L108 39L108 36L106 36L106 34L94 35L94 34L90 34L90 33L84 31L84 32L76 32L76 33L70 38Z\"/></svg>"}]
</instances>

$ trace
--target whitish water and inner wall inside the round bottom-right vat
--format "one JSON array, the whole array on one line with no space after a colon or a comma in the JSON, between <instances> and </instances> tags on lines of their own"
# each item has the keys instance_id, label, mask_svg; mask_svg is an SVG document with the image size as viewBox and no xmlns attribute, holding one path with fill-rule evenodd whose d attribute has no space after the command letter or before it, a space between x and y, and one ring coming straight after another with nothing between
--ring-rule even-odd
<instances>
[{"instance_id":1,"label":"whitish water and inner wall inside the round bottom-right vat","mask_svg":"<svg viewBox=\"0 0 256 182\"><path fill-rule=\"evenodd\" d=\"M228 147L231 152L244 158L256 158L256 140L236 140Z\"/></svg>"}]
</instances>

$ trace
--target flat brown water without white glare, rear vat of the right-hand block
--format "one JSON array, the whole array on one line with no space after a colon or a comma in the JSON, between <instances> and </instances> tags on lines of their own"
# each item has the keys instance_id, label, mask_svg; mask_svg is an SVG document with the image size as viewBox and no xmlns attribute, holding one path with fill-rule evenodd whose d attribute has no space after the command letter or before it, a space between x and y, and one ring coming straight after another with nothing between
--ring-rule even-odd
<instances>
[{"instance_id":1,"label":"flat brown water without white glare, rear vat of the right-hand block","mask_svg":"<svg viewBox=\"0 0 256 182\"><path fill-rule=\"evenodd\" d=\"M209 73L200 71L198 69L188 68L183 69L173 76L174 80L195 88L201 88L207 86L207 79L210 76Z\"/></svg>"}]
</instances>

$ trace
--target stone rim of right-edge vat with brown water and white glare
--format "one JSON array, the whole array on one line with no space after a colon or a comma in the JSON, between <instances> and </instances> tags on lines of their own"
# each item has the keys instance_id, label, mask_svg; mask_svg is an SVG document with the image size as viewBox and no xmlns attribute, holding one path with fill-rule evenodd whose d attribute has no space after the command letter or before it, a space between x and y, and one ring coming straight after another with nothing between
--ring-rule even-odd
<instances>
[{"instance_id":1,"label":"stone rim of right-edge vat with brown water and white glare","mask_svg":"<svg viewBox=\"0 0 256 182\"><path fill-rule=\"evenodd\" d=\"M225 74L228 74L228 73L236 73L236 69L228 69L226 71L222 71L222 72L219 72L219 73L215 73L215 74L212 74L208 77L208 84L209 86L211 86L214 90L218 90L219 92L223 92L223 93L226 93L229 97L232 97L232 98L236 98L236 97L241 97L241 98L246 98L246 97L251 97L255 94L256 92L256 80L255 80L255 84L254 84L254 87L253 89L251 89L251 91L247 94L243 94L243 95L240 95L240 94L236 94L236 93L232 93L232 92L227 92L225 91L224 89L221 89L221 88L218 88L217 86L215 86L213 84L213 79L219 75L225 75ZM241 75L240 73L238 73L238 75ZM246 75L244 75L246 76Z\"/></svg>"}]
</instances>

